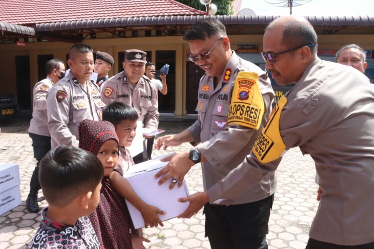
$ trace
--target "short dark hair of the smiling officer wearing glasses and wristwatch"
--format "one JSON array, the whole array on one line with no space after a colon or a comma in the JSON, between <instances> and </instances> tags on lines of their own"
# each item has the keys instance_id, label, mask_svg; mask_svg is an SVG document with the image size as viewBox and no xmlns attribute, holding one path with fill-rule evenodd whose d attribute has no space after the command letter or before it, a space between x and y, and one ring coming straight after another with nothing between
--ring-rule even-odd
<instances>
[{"instance_id":1,"label":"short dark hair of the smiling officer wearing glasses and wristwatch","mask_svg":"<svg viewBox=\"0 0 374 249\"><path fill-rule=\"evenodd\" d=\"M192 25L183 36L186 41L205 40L213 35L227 36L226 28L217 18L202 19Z\"/></svg>"}]
</instances>

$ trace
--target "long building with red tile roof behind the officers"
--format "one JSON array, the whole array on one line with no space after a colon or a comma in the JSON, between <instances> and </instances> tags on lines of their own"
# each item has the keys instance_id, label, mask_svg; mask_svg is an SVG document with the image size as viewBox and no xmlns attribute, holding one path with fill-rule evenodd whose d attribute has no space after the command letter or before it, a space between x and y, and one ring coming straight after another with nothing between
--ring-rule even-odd
<instances>
[{"instance_id":1,"label":"long building with red tile roof behind the officers","mask_svg":"<svg viewBox=\"0 0 374 249\"><path fill-rule=\"evenodd\" d=\"M213 0L214 2L214 0ZM202 69L187 60L186 29L205 12L175 0L1 0L0 89L18 96L21 110L31 110L32 88L45 77L44 64L51 58L66 62L72 43L83 42L94 51L111 54L110 76L121 72L124 50L141 49L160 69L170 65L168 95L159 99L161 113L194 114L196 89ZM244 59L264 67L259 54L268 23L278 16L215 16L226 26L231 48ZM307 16L319 40L324 59L356 43L368 50L368 74L374 78L374 16ZM18 43L15 43L18 41ZM274 89L276 90L276 86ZM277 96L280 96L280 92Z\"/></svg>"}]
</instances>

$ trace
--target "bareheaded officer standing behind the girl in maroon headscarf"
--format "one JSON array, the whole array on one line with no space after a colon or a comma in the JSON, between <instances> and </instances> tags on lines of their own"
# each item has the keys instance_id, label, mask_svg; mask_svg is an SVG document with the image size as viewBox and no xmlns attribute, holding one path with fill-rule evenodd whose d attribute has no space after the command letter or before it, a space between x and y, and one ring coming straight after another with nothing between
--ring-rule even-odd
<instances>
[{"instance_id":1,"label":"bareheaded officer standing behind the girl in maroon headscarf","mask_svg":"<svg viewBox=\"0 0 374 249\"><path fill-rule=\"evenodd\" d=\"M78 147L78 125L85 119L101 120L99 87L90 80L93 53L87 44L75 44L69 50L70 72L48 93L48 129L52 148L58 145Z\"/></svg>"}]
</instances>

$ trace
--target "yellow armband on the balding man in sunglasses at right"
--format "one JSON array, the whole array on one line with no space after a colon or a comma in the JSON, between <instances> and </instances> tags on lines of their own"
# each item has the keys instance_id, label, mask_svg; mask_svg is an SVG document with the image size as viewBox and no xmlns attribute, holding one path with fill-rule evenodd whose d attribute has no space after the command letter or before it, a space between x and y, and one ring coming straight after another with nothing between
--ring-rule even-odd
<instances>
[{"instance_id":1,"label":"yellow armband on the balding man in sunglasses at right","mask_svg":"<svg viewBox=\"0 0 374 249\"><path fill-rule=\"evenodd\" d=\"M269 121L253 144L252 152L261 163L274 161L282 156L286 149L279 131L279 120L287 98L282 96L270 114Z\"/></svg>"}]
</instances>

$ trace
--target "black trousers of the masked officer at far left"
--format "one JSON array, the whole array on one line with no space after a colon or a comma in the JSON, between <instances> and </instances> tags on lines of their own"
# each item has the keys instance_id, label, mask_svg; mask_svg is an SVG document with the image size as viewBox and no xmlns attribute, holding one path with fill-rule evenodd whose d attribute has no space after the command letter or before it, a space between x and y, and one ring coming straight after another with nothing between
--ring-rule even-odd
<instances>
[{"instance_id":1,"label":"black trousers of the masked officer at far left","mask_svg":"<svg viewBox=\"0 0 374 249\"><path fill-rule=\"evenodd\" d=\"M32 139L32 147L34 149L34 158L36 159L36 167L32 172L30 180L30 192L37 192L41 189L39 183L39 162L45 156L45 154L51 150L51 137L42 136L34 133L28 133L28 136Z\"/></svg>"}]
</instances>

